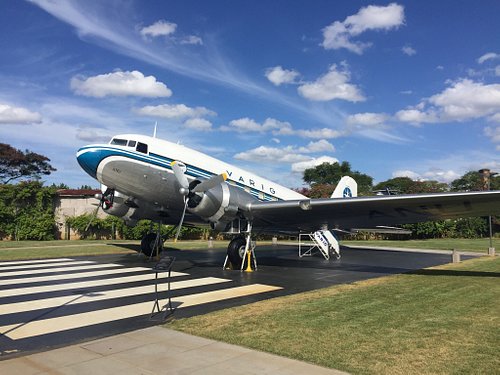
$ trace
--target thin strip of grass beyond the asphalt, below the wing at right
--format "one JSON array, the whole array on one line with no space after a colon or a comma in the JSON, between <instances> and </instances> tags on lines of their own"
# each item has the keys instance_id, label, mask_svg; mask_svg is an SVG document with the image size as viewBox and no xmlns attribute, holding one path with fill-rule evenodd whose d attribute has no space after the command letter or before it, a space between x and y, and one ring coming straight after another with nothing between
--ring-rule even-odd
<instances>
[{"instance_id":1,"label":"thin strip of grass beyond the asphalt, below the wing at right","mask_svg":"<svg viewBox=\"0 0 500 375\"><path fill-rule=\"evenodd\" d=\"M367 247L403 247L416 249L434 249L434 250L461 250L487 253L490 246L489 238L436 238L429 240L373 240L373 241L342 241L342 245L356 245ZM500 250L500 238L493 238L493 247Z\"/></svg>"}]
</instances>

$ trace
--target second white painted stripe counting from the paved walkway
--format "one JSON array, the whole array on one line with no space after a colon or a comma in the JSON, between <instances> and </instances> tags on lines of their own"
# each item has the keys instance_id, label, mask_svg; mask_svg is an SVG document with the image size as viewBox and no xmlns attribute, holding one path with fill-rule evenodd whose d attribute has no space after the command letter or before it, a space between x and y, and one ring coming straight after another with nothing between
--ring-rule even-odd
<instances>
[{"instance_id":1,"label":"second white painted stripe counting from the paved walkway","mask_svg":"<svg viewBox=\"0 0 500 375\"><path fill-rule=\"evenodd\" d=\"M162 280L163 281L163 280ZM200 279L192 279L192 280L184 280L184 281L175 281L170 283L171 290L179 290L184 288L194 288L198 286L205 285L213 285L219 283L229 282L229 279L220 279L217 277L204 277ZM158 284L159 293L163 293L167 290L166 283ZM24 302L16 302L0 305L0 315L7 314L15 314L26 311L40 310L40 309L48 309L48 308L57 308L63 307L64 305L73 305L87 302L97 302L108 300L112 298L120 298L120 297L131 297L137 296L141 294L150 294L154 293L154 285L145 285L139 287L130 287L130 288L122 288L122 289L114 289L107 290L102 292L88 291L85 294L72 294L69 296L63 297L54 297L54 298L44 298L37 299L31 301Z\"/></svg>"}]
</instances>

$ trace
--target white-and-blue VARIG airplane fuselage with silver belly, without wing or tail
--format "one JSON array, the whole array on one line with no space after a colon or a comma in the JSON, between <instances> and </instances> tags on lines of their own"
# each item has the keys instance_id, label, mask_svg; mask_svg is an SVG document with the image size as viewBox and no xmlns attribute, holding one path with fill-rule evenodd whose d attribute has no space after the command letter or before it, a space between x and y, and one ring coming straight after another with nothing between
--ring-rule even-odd
<instances>
[{"instance_id":1,"label":"white-and-blue VARIG airplane fuselage with silver belly, without wing or tail","mask_svg":"<svg viewBox=\"0 0 500 375\"><path fill-rule=\"evenodd\" d=\"M291 189L199 151L145 135L122 134L113 137L108 144L82 147L77 152L77 160L90 176L104 186L103 192L106 188L114 192L113 206L107 207L106 211L122 217L129 224L142 218L178 223L184 208L184 196L179 193L180 186L174 176L172 162L182 166L190 183L221 173L227 176L227 184L220 186L218 199L221 200L221 207L200 207L202 202L195 207L193 202L188 206L188 212L196 215L188 216L188 222L204 221L215 227L222 220L218 226L222 228L234 218L234 215L224 213L237 209L230 207L231 195L240 199L243 196L245 202L305 198ZM212 212L215 208L221 212Z\"/></svg>"}]
</instances>

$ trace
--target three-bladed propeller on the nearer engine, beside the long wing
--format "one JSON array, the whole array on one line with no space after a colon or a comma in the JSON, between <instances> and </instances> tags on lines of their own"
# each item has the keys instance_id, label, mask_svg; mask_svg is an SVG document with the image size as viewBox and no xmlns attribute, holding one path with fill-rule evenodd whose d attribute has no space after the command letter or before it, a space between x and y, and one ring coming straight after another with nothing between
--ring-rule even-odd
<instances>
[{"instance_id":1,"label":"three-bladed propeller on the nearer engine, beside the long wing","mask_svg":"<svg viewBox=\"0 0 500 375\"><path fill-rule=\"evenodd\" d=\"M179 238L179 235L181 233L182 224L184 223L184 216L186 215L186 209L189 203L189 199L194 197L196 193L204 193L218 186L227 179L227 174L222 173L219 175L212 176L208 180L204 180L198 183L197 185L193 186L193 183L191 184L189 183L186 175L184 174L184 171L182 170L179 164L181 163L175 160L172 163L170 163L170 165L172 166L172 170L174 171L174 176L180 185L179 193L181 193L184 196L184 209L182 210L181 220L179 222L179 225L177 226L177 233L175 234L174 242L177 242L177 239Z\"/></svg>"}]
</instances>

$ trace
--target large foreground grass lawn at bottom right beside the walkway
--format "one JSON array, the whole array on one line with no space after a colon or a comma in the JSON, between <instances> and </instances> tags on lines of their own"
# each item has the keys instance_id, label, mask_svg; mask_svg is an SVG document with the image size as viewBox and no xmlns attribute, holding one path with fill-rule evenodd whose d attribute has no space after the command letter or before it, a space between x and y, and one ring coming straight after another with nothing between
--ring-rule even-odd
<instances>
[{"instance_id":1,"label":"large foreground grass lawn at bottom right beside the walkway","mask_svg":"<svg viewBox=\"0 0 500 375\"><path fill-rule=\"evenodd\" d=\"M483 257L166 327L353 374L499 374L499 277Z\"/></svg>"}]
</instances>

